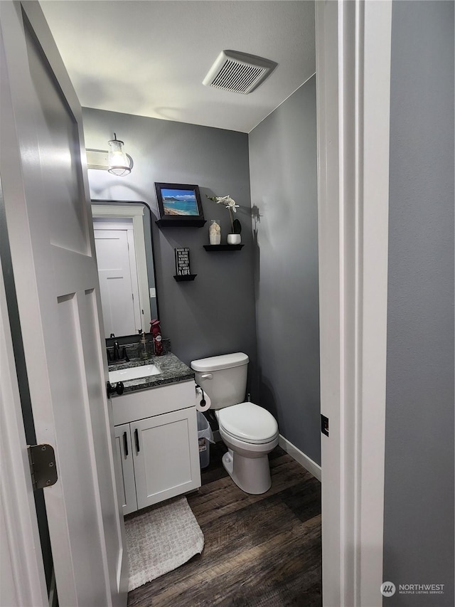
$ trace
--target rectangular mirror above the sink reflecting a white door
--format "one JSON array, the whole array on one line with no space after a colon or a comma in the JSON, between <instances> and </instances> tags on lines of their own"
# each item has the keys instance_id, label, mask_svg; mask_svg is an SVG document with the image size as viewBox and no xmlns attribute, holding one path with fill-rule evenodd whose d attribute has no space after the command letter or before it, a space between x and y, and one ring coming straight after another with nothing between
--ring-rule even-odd
<instances>
[{"instance_id":1,"label":"rectangular mirror above the sink reflecting a white door","mask_svg":"<svg viewBox=\"0 0 455 607\"><path fill-rule=\"evenodd\" d=\"M105 337L149 332L158 318L149 206L92 200L92 216Z\"/></svg>"}]
</instances>

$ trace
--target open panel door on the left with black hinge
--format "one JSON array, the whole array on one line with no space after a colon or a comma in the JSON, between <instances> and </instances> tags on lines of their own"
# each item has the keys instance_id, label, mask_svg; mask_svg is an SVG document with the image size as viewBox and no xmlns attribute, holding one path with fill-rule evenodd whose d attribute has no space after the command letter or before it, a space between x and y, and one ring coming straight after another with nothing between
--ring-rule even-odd
<instances>
[{"instance_id":1,"label":"open panel door on the left with black hinge","mask_svg":"<svg viewBox=\"0 0 455 607\"><path fill-rule=\"evenodd\" d=\"M124 529L80 105L36 2L1 3L6 223L60 605L121 606Z\"/></svg>"}]
</instances>

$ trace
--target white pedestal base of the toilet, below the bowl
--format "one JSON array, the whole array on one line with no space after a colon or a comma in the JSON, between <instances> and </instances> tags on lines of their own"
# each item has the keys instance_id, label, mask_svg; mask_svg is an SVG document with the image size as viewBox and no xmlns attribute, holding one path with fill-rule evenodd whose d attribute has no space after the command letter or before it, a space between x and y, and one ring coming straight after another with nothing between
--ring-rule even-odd
<instances>
[{"instance_id":1,"label":"white pedestal base of the toilet, below the bowl","mask_svg":"<svg viewBox=\"0 0 455 607\"><path fill-rule=\"evenodd\" d=\"M245 458L232 449L223 455L223 466L239 487L245 493L259 495L265 493L272 486L270 477L269 455Z\"/></svg>"}]
</instances>

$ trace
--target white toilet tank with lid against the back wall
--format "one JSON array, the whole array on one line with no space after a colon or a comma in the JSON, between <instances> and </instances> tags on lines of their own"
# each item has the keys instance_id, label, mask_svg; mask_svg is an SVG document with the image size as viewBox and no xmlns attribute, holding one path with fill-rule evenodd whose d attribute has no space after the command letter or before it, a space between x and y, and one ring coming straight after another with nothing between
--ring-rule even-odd
<instances>
[{"instance_id":1,"label":"white toilet tank with lid against the back wall","mask_svg":"<svg viewBox=\"0 0 455 607\"><path fill-rule=\"evenodd\" d=\"M196 384L208 394L211 408L221 409L245 401L250 359L243 352L193 360Z\"/></svg>"}]
</instances>

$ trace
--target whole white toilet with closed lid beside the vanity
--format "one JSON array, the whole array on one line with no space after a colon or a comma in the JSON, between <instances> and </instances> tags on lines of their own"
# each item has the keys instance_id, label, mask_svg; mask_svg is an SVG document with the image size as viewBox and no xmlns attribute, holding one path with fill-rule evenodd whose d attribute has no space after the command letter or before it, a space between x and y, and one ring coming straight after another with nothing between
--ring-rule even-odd
<instances>
[{"instance_id":1,"label":"whole white toilet with closed lid beside the vanity","mask_svg":"<svg viewBox=\"0 0 455 607\"><path fill-rule=\"evenodd\" d=\"M223 465L246 493L265 493L272 485L268 454L278 445L274 416L250 402L243 402L247 388L247 354L223 354L193 360L196 384L212 401L220 436L228 447Z\"/></svg>"}]
</instances>

